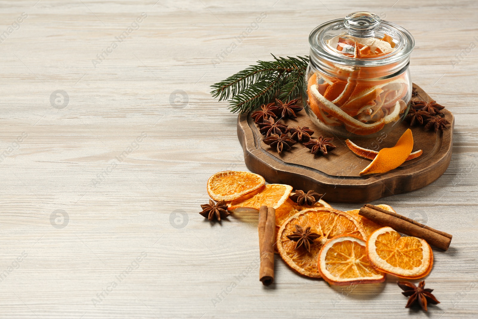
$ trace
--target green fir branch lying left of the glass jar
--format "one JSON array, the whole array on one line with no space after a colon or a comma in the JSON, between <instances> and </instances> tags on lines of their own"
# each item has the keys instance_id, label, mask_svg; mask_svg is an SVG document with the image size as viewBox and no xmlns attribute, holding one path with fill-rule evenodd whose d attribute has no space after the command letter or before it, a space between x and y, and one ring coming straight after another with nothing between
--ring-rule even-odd
<instances>
[{"instance_id":1,"label":"green fir branch lying left of the glass jar","mask_svg":"<svg viewBox=\"0 0 478 319\"><path fill-rule=\"evenodd\" d=\"M214 98L229 101L231 112L249 112L275 98L296 99L304 85L308 56L274 57L275 61L257 61L224 81L211 85Z\"/></svg>"}]
</instances>

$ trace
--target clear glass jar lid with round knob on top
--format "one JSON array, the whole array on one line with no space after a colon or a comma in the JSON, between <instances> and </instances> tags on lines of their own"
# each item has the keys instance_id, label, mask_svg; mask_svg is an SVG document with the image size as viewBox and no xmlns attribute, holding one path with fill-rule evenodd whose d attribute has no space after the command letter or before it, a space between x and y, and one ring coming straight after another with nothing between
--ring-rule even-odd
<instances>
[{"instance_id":1,"label":"clear glass jar lid with round knob on top","mask_svg":"<svg viewBox=\"0 0 478 319\"><path fill-rule=\"evenodd\" d=\"M407 59L413 36L402 27L383 21L374 13L358 11L345 19L326 22L309 36L311 58L346 66L378 66Z\"/></svg>"}]
</instances>

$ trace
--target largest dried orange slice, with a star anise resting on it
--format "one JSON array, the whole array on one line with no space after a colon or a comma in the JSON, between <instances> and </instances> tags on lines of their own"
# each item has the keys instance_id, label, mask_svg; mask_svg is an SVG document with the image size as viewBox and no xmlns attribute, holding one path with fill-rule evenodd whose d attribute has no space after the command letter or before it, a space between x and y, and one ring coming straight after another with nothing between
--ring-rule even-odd
<instances>
[{"instance_id":1,"label":"largest dried orange slice, with a star anise resting on it","mask_svg":"<svg viewBox=\"0 0 478 319\"><path fill-rule=\"evenodd\" d=\"M310 227L312 232L320 235L320 238L310 245L310 252L304 247L295 250L296 242L287 237L296 231L295 225ZM365 231L352 216L343 211L326 207L308 208L299 211L282 224L277 236L277 250L285 263L299 274L320 278L317 267L320 249L329 239L338 235L363 238Z\"/></svg>"}]
</instances>

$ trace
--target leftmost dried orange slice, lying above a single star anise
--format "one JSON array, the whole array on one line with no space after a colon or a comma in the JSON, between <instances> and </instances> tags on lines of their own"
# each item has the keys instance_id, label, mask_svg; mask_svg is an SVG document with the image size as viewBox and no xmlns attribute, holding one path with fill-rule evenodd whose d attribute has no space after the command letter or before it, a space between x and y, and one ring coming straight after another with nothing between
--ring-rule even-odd
<instances>
[{"instance_id":1,"label":"leftmost dried orange slice, lying above a single star anise","mask_svg":"<svg viewBox=\"0 0 478 319\"><path fill-rule=\"evenodd\" d=\"M249 172L224 171L207 180L207 194L214 200L233 200L265 184L264 177Z\"/></svg>"}]
</instances>

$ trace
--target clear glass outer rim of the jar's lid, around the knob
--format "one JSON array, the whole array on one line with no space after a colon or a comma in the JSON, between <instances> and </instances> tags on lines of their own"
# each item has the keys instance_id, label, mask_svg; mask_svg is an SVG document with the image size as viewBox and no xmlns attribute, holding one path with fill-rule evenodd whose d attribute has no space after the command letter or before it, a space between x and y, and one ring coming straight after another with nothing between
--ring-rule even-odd
<instances>
[{"instance_id":1,"label":"clear glass outer rim of the jar's lid, around the knob","mask_svg":"<svg viewBox=\"0 0 478 319\"><path fill-rule=\"evenodd\" d=\"M415 45L415 40L413 39L412 34L409 33L406 29L395 23L381 20L380 26L385 26L386 28L393 30L399 36L399 42L393 52L385 56L368 59L359 59L346 55L337 55L337 53L333 52L326 44L324 35L327 31L333 29L334 27L337 28L340 26L344 26L344 19L336 19L325 22L312 30L309 35L311 59L325 59L328 62L343 66L384 66L400 62L403 59L408 59Z\"/></svg>"}]
</instances>

